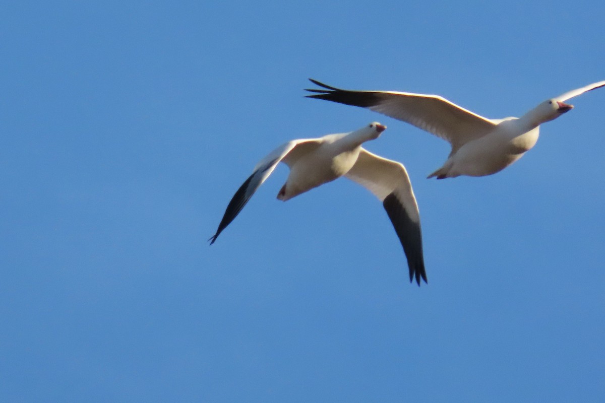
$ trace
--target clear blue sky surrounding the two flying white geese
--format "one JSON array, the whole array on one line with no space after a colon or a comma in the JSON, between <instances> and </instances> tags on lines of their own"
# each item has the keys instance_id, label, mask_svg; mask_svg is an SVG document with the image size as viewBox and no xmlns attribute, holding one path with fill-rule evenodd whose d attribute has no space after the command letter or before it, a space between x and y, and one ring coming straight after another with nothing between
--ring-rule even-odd
<instances>
[{"instance_id":1,"label":"clear blue sky surrounding the two flying white geese","mask_svg":"<svg viewBox=\"0 0 605 403\"><path fill-rule=\"evenodd\" d=\"M214 3L214 4L212 4ZM490 118L605 80L602 2L0 5L0 401L597 402L605 395L605 89L494 176L344 88ZM378 120L429 284L344 179L287 203L253 166Z\"/></svg>"}]
</instances>

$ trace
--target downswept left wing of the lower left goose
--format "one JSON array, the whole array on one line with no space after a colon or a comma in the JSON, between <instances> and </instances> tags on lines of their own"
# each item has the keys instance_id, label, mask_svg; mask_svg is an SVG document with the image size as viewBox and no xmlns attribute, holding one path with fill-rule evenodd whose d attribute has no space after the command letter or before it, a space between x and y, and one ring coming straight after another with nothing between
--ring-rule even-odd
<instances>
[{"instance_id":1,"label":"downswept left wing of the lower left goose","mask_svg":"<svg viewBox=\"0 0 605 403\"><path fill-rule=\"evenodd\" d=\"M289 163L292 158L297 158L301 150L309 150L319 146L318 139L302 139L292 140L286 144L281 145L272 152L269 153L260 163L254 167L252 175L246 179L246 181L240 186L240 189L235 192L233 198L227 205L227 210L223 214L220 224L218 224L217 233L215 233L210 239L210 244L217 240L217 237L221 232L234 221L237 214L240 213L244 205L250 200L254 192L263 184L265 179L269 178L269 175L273 172L275 167L280 161ZM292 155L290 155L292 154Z\"/></svg>"}]
</instances>

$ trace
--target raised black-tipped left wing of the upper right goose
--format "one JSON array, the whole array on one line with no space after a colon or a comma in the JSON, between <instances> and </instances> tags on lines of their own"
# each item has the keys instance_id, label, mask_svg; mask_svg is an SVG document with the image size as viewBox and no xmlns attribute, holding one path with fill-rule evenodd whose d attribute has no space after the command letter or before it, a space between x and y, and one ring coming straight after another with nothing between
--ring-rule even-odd
<instances>
[{"instance_id":1,"label":"raised black-tipped left wing of the upper right goose","mask_svg":"<svg viewBox=\"0 0 605 403\"><path fill-rule=\"evenodd\" d=\"M307 98L360 106L405 121L449 141L452 152L492 131L495 121L477 115L439 95L395 91L350 91L309 79L326 89L306 89Z\"/></svg>"}]
</instances>

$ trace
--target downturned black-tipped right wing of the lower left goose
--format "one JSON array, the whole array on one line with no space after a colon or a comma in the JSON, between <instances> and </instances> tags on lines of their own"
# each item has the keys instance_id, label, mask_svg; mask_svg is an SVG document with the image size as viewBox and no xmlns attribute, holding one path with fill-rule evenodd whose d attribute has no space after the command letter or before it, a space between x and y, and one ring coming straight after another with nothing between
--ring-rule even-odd
<instances>
[{"instance_id":1,"label":"downturned black-tipped right wing of the lower left goose","mask_svg":"<svg viewBox=\"0 0 605 403\"><path fill-rule=\"evenodd\" d=\"M420 285L422 277L426 283L420 213L405 167L362 148L355 165L345 176L370 190L382 202L404 247L410 282L416 277Z\"/></svg>"}]
</instances>

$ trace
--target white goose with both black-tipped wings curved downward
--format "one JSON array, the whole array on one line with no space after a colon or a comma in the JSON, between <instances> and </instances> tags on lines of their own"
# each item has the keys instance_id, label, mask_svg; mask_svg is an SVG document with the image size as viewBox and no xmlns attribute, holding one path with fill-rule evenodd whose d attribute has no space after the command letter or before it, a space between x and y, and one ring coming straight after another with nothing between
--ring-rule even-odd
<instances>
[{"instance_id":1,"label":"white goose with both black-tipped wings curved downward","mask_svg":"<svg viewBox=\"0 0 605 403\"><path fill-rule=\"evenodd\" d=\"M386 128L373 122L350 133L292 140L273 150L257 164L252 175L235 192L217 232L209 239L210 244L237 217L254 192L281 162L290 167L286 184L277 195L283 201L341 176L370 190L382 202L404 248L410 269L410 282L414 277L418 285L420 278L427 282L420 214L408 173L402 164L374 155L361 147L365 141L378 138Z\"/></svg>"}]
</instances>

